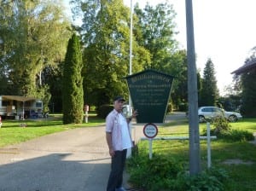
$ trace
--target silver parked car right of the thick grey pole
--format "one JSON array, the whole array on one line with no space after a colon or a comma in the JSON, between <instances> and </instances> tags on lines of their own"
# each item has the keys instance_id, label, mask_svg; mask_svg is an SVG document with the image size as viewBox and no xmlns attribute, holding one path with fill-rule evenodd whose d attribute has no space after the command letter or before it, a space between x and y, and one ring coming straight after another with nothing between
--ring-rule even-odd
<instances>
[{"instance_id":1,"label":"silver parked car right of the thick grey pole","mask_svg":"<svg viewBox=\"0 0 256 191\"><path fill-rule=\"evenodd\" d=\"M207 119L213 119L217 116L224 116L230 122L236 122L238 119L241 119L241 113L236 112L227 112L219 107L199 107L198 109L198 119L199 122L205 122Z\"/></svg>"}]
</instances>

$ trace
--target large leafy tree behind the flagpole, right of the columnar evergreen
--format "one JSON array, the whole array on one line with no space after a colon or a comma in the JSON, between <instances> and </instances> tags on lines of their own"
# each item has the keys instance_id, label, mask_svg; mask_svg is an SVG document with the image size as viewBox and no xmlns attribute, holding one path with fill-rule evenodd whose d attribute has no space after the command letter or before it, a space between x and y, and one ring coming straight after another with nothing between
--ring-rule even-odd
<instances>
[{"instance_id":1,"label":"large leafy tree behind the flagpole, right of the columnar evergreen","mask_svg":"<svg viewBox=\"0 0 256 191\"><path fill-rule=\"evenodd\" d=\"M84 43L84 101L97 107L113 96L128 96L130 9L122 0L77 1L84 14L79 28ZM136 22L136 17L134 17ZM148 51L133 37L132 72L150 61Z\"/></svg>"}]
</instances>

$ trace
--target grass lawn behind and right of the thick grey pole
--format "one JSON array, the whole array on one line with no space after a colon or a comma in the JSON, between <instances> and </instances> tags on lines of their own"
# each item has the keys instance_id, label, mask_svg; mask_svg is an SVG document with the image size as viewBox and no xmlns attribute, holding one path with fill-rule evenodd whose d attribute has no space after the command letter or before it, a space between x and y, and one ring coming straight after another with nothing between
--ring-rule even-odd
<instances>
[{"instance_id":1,"label":"grass lawn behind and right of the thick grey pole","mask_svg":"<svg viewBox=\"0 0 256 191\"><path fill-rule=\"evenodd\" d=\"M242 119L230 123L231 129L256 132L256 119ZM200 124L200 131L207 124ZM165 124L159 128L159 136L189 136L187 120ZM207 141L201 140L201 168L207 169ZM224 169L229 173L230 181L226 182L225 190L248 191L256 190L256 145L251 142L225 142L213 140L212 167ZM148 152L148 141L138 144L139 153ZM154 141L153 152L168 155L183 161L189 170L189 140L183 141ZM153 154L154 157L154 154Z\"/></svg>"}]
</instances>

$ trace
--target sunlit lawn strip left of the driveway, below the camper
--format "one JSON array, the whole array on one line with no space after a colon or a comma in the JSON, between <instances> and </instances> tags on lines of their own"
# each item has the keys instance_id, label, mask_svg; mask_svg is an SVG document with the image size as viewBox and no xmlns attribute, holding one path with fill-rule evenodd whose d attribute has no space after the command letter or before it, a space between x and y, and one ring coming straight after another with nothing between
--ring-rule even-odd
<instances>
[{"instance_id":1,"label":"sunlit lawn strip left of the driveway, below the camper","mask_svg":"<svg viewBox=\"0 0 256 191\"><path fill-rule=\"evenodd\" d=\"M45 136L62 130L84 128L104 124L104 119L98 119L91 114L88 123L63 124L61 115L50 115L48 119L3 120L0 128L0 148L19 142L26 142L38 136ZM24 126L24 127L23 127Z\"/></svg>"}]
</instances>

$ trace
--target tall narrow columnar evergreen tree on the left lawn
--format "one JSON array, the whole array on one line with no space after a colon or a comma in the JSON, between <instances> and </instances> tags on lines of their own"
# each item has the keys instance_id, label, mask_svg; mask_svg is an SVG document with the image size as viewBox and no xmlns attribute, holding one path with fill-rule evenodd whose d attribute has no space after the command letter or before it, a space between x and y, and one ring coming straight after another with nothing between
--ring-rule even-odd
<instances>
[{"instance_id":1,"label":"tall narrow columnar evergreen tree on the left lawn","mask_svg":"<svg viewBox=\"0 0 256 191\"><path fill-rule=\"evenodd\" d=\"M73 34L67 45L63 67L62 108L64 124L79 124L83 120L84 91L82 53L79 38Z\"/></svg>"}]
</instances>

